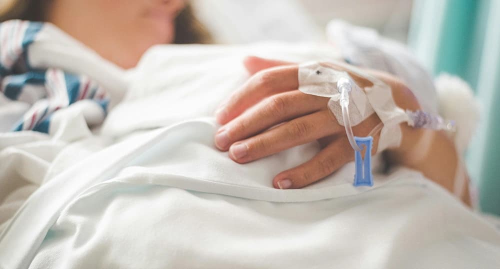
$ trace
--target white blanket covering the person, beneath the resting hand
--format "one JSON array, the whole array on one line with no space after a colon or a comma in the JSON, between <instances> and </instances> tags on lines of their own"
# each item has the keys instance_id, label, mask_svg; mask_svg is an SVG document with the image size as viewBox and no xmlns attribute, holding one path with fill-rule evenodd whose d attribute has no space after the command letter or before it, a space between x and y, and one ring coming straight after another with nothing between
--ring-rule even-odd
<instances>
[{"instance_id":1,"label":"white blanket covering the person, beneath the resting hand","mask_svg":"<svg viewBox=\"0 0 500 269\"><path fill-rule=\"evenodd\" d=\"M279 190L272 177L312 157L316 143L243 165L215 149L211 115L247 78L247 54L338 57L310 45L157 46L99 135L74 135L85 127L77 112L59 132L65 139L0 134L2 172L32 181L19 191L2 174L12 190L2 198L41 184L2 226L0 267L500 265L500 233L416 171L375 173L373 187L356 188L347 164L306 188Z\"/></svg>"}]
</instances>

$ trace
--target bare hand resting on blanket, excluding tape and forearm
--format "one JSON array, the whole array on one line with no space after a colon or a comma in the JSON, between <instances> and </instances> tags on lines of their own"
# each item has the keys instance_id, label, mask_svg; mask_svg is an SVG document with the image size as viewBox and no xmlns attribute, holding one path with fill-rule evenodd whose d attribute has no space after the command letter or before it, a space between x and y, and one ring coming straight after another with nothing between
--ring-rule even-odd
<instances>
[{"instance_id":1,"label":"bare hand resting on blanket, excluding tape and forearm","mask_svg":"<svg viewBox=\"0 0 500 269\"><path fill-rule=\"evenodd\" d=\"M216 112L217 121L223 124L215 135L217 148L228 150L234 161L246 163L318 140L321 151L309 161L277 174L273 179L276 188L303 187L354 159L344 127L327 108L328 98L297 89L297 64L257 57L248 57L244 64L252 76ZM418 108L411 91L397 79L368 72L391 86L397 105ZM362 77L350 75L360 86L370 84ZM372 114L354 126L353 132L365 136L379 122L378 116ZM372 154L376 151L378 134L373 139Z\"/></svg>"}]
</instances>

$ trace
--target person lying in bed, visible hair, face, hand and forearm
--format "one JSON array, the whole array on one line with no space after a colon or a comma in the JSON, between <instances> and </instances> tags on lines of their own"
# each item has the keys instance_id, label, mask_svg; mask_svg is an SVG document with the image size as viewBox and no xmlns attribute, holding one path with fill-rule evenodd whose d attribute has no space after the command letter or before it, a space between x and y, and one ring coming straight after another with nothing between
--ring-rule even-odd
<instances>
[{"instance_id":1,"label":"person lying in bed, visible hair, face, hand and forearm","mask_svg":"<svg viewBox=\"0 0 500 269\"><path fill-rule=\"evenodd\" d=\"M134 67L154 44L205 43L210 39L183 0L11 0L3 9L1 21L51 22L125 69ZM327 108L328 98L297 90L298 63L250 56L244 65L251 77L215 115L222 125L214 137L218 149L228 151L235 162L246 163L299 144L319 141L322 150L316 156L272 179L273 186L282 189L311 184L353 160L343 127ZM399 107L420 108L413 92L397 76L381 70L364 71L390 86ZM362 77L353 77L359 85L369 83ZM372 114L354 126L354 134L365 136L379 122L377 115ZM270 128L272 126L276 127ZM385 151L390 165L420 170L452 191L459 165L453 141L443 131L423 131L405 123L400 124L400 129L400 145ZM374 136L373 153L378 138ZM470 204L467 186L460 197Z\"/></svg>"}]
</instances>

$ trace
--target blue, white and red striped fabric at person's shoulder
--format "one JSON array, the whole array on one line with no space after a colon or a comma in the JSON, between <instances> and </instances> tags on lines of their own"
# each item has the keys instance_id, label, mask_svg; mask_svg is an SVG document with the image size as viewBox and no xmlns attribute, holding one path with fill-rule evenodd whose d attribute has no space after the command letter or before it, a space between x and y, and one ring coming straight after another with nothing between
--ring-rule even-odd
<instances>
[{"instance_id":1,"label":"blue, white and red striped fabric at person's shoulder","mask_svg":"<svg viewBox=\"0 0 500 269\"><path fill-rule=\"evenodd\" d=\"M31 105L13 131L35 130L48 133L51 115L58 109L83 99L96 101L107 109L109 97L85 75L58 68L31 66L28 47L44 23L9 20L0 23L0 93L11 100Z\"/></svg>"}]
</instances>

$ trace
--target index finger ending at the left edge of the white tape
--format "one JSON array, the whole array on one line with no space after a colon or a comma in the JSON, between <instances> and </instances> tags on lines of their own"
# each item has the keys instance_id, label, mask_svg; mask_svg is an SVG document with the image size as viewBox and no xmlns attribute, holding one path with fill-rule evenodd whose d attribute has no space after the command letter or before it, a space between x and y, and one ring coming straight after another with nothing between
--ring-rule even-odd
<instances>
[{"instance_id":1,"label":"index finger ending at the left edge of the white tape","mask_svg":"<svg viewBox=\"0 0 500 269\"><path fill-rule=\"evenodd\" d=\"M267 96L298 88L298 66L284 65L262 70L254 74L246 83L232 94L229 100L215 113L220 124L241 114Z\"/></svg>"}]
</instances>

